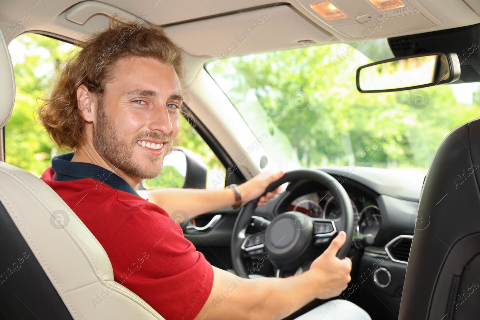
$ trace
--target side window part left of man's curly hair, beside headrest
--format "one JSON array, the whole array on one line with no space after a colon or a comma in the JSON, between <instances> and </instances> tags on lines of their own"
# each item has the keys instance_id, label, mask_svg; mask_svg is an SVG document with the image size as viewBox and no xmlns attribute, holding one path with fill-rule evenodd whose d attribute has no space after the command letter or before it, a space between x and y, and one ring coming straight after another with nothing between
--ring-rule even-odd
<instances>
[{"instance_id":1,"label":"side window part left of man's curly hair, beside headrest","mask_svg":"<svg viewBox=\"0 0 480 320\"><path fill-rule=\"evenodd\" d=\"M15 72L15 104L5 125L5 161L37 177L60 154L43 127L34 119L37 97L48 94L55 71L75 47L63 41L36 34L16 37L8 49Z\"/></svg>"}]
</instances>

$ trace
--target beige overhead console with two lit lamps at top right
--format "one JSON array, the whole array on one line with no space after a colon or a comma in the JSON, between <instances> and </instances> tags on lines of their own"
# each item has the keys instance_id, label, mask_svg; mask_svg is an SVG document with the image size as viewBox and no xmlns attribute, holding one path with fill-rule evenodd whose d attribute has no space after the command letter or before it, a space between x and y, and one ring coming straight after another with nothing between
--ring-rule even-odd
<instances>
[{"instance_id":1,"label":"beige overhead console with two lit lamps at top right","mask_svg":"<svg viewBox=\"0 0 480 320\"><path fill-rule=\"evenodd\" d=\"M473 0L472 0L473 1ZM479 15L463 1L294 0L312 20L341 39L400 36L477 24ZM423 4L423 5L422 5ZM478 7L478 5L477 5ZM417 31L418 30L418 31Z\"/></svg>"}]
</instances>

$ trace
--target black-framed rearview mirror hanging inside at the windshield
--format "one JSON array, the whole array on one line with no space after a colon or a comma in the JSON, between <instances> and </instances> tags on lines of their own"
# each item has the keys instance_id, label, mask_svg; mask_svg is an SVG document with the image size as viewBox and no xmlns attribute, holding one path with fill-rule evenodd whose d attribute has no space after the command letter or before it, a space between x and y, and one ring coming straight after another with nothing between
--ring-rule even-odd
<instances>
[{"instance_id":1,"label":"black-framed rearview mirror hanging inside at the windshield","mask_svg":"<svg viewBox=\"0 0 480 320\"><path fill-rule=\"evenodd\" d=\"M357 89L362 93L417 89L451 83L460 78L456 53L424 53L361 66Z\"/></svg>"}]
</instances>

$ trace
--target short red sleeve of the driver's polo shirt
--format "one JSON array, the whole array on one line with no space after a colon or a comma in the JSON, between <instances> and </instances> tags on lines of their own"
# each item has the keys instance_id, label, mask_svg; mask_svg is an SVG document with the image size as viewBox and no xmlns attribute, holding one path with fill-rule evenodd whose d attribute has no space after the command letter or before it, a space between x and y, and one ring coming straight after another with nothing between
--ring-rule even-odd
<instances>
[{"instance_id":1,"label":"short red sleeve of the driver's polo shirt","mask_svg":"<svg viewBox=\"0 0 480 320\"><path fill-rule=\"evenodd\" d=\"M213 269L180 225L154 210L137 209L106 248L115 281L166 320L192 320L213 286Z\"/></svg>"}]
</instances>

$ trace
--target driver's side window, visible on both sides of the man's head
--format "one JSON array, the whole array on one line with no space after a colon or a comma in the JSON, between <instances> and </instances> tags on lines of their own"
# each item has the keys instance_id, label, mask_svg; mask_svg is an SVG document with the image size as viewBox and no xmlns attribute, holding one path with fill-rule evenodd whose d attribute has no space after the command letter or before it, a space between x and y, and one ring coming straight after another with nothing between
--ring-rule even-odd
<instances>
[{"instance_id":1,"label":"driver's side window, visible on both sides of the man's head","mask_svg":"<svg viewBox=\"0 0 480 320\"><path fill-rule=\"evenodd\" d=\"M37 97L48 95L61 63L77 49L63 41L32 33L18 36L9 44L16 93L12 116L5 126L5 161L37 177L51 166L52 157L68 152L58 150L38 119L34 119L38 102L41 102ZM208 189L224 187L225 167L183 117L180 117L176 145L202 158L208 167ZM185 166L181 166L180 160L169 157L162 173L155 179L145 180L144 186L147 189L181 188L184 182Z\"/></svg>"}]
</instances>

